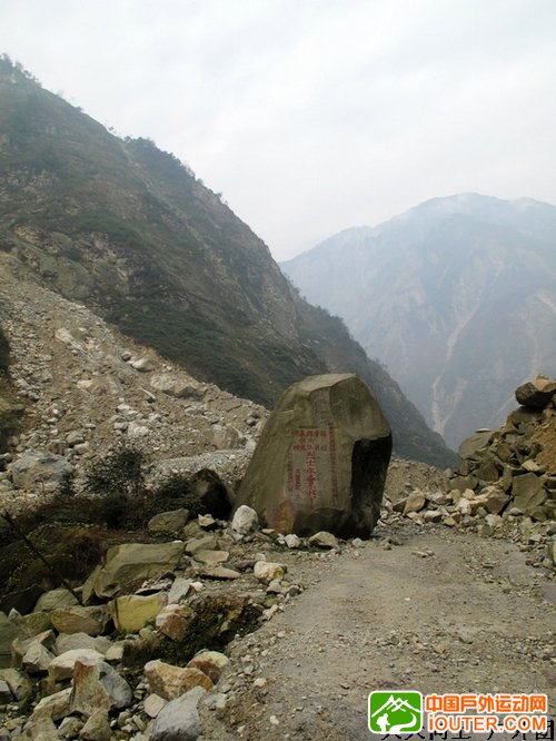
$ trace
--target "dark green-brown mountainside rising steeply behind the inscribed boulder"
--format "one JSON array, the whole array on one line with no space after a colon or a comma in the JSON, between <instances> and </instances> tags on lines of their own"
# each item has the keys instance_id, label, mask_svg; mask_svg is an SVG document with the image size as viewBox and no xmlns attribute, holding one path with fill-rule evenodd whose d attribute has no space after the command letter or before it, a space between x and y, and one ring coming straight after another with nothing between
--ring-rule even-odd
<instances>
[{"instance_id":1,"label":"dark green-brown mountainside rising steeply behind the inscribed boulder","mask_svg":"<svg viewBox=\"0 0 556 741\"><path fill-rule=\"evenodd\" d=\"M110 135L6 57L0 251L12 273L19 265L236 395L271 405L306 375L358 373L400 455L454 462L384 368L298 296L218 195L152 141Z\"/></svg>"}]
</instances>

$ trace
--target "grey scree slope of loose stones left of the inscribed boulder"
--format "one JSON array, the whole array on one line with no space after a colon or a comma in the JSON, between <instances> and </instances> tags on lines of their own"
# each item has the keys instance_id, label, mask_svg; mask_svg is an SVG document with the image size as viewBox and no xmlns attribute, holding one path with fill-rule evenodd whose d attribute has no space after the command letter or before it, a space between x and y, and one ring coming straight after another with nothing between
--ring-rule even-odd
<instances>
[{"instance_id":1,"label":"grey scree slope of loose stones left of the inscribed boulder","mask_svg":"<svg viewBox=\"0 0 556 741\"><path fill-rule=\"evenodd\" d=\"M11 396L26 409L4 461L49 453L79 474L126 441L148 454L152 475L210 464L231 483L240 477L265 407L196 381L85 306L14 278L6 256L0 263ZM10 511L40 501L43 488L38 481L18 488L0 472L0 501Z\"/></svg>"}]
</instances>

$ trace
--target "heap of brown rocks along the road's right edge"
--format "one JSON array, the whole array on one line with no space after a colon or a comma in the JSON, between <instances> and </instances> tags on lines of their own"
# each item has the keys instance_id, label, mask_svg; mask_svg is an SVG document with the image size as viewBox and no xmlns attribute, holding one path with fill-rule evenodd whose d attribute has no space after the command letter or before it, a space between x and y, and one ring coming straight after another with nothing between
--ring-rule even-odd
<instances>
[{"instance_id":1,"label":"heap of brown rocks along the road's right edge","mask_svg":"<svg viewBox=\"0 0 556 741\"><path fill-rule=\"evenodd\" d=\"M556 381L544 376L519 386L522 406L494 432L464 441L461 465L449 491L414 490L391 510L418 523L477 530L509 537L556 565Z\"/></svg>"}]
</instances>

